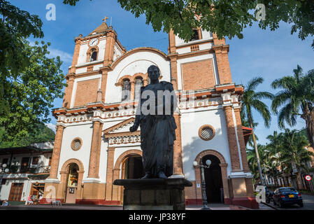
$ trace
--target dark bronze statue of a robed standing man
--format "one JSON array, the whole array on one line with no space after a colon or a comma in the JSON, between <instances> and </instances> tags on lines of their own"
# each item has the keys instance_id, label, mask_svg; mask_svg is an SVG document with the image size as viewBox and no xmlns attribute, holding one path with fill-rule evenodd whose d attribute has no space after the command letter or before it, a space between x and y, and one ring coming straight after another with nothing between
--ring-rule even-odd
<instances>
[{"instance_id":1,"label":"dark bronze statue of a robed standing man","mask_svg":"<svg viewBox=\"0 0 314 224\"><path fill-rule=\"evenodd\" d=\"M148 68L150 84L141 87L134 125L130 132L141 127L143 151L143 179L166 179L173 174L173 143L176 140L176 121L173 112L177 106L173 85L159 82L159 69Z\"/></svg>"}]
</instances>

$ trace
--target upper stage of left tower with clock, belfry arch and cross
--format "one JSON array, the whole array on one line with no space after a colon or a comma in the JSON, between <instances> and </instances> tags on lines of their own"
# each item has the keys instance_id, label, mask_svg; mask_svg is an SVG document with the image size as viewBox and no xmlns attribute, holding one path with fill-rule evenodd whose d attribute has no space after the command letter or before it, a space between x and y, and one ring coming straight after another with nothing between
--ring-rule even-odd
<instances>
[{"instance_id":1,"label":"upper stage of left tower with clock, belfry arch and cross","mask_svg":"<svg viewBox=\"0 0 314 224\"><path fill-rule=\"evenodd\" d=\"M80 34L74 39L76 45L73 61L66 75L68 86L62 105L66 109L105 101L110 64L126 52L117 39L117 33L113 27L108 27L106 20L107 17L87 36Z\"/></svg>"}]
</instances>

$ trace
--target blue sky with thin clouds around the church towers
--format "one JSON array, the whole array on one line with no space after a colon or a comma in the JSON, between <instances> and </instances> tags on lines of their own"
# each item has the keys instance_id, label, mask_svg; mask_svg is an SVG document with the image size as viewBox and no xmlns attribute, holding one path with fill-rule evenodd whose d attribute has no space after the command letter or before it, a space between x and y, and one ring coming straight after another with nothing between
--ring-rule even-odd
<instances>
[{"instance_id":1,"label":"blue sky with thin clouds around the church towers","mask_svg":"<svg viewBox=\"0 0 314 224\"><path fill-rule=\"evenodd\" d=\"M64 74L71 65L74 50L74 37L79 34L86 36L98 27L105 17L112 18L112 25L117 31L117 37L127 50L141 46L150 46L168 53L168 34L154 32L150 25L145 24L145 17L135 18L133 14L120 8L115 0L81 0L77 6L66 6L62 0L11 0L15 6L22 10L27 10L31 14L39 15L43 21L44 41L52 43L50 55L59 55L64 64L62 70ZM46 5L54 3L56 6L56 20L46 20ZM110 19L107 20L110 24ZM290 34L291 25L280 24L276 31L269 29L262 30L253 25L243 31L244 38L227 39L230 45L229 63L231 75L236 84L245 85L256 76L262 76L264 83L257 87L258 91L278 92L270 86L276 78L292 75L292 69L299 64L304 72L314 69L314 50L311 48L313 37L301 41L297 34ZM34 39L31 39L34 41ZM265 101L270 107L271 102ZM62 106L62 99L55 100L55 108ZM51 123L56 123L51 116ZM261 116L254 113L256 134L259 143L266 144L266 137L274 130L280 131L275 115L271 116L271 127L266 129ZM52 126L50 125L50 126ZM301 118L294 128L305 127L305 122Z\"/></svg>"}]
</instances>

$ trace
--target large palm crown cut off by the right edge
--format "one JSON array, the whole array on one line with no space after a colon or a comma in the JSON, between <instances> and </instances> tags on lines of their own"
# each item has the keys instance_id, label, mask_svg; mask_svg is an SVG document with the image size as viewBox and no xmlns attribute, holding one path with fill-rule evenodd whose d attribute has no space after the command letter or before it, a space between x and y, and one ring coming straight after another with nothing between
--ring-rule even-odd
<instances>
[{"instance_id":1,"label":"large palm crown cut off by the right edge","mask_svg":"<svg viewBox=\"0 0 314 224\"><path fill-rule=\"evenodd\" d=\"M301 66L293 70L293 76L284 76L271 83L274 89L282 88L273 98L271 109L278 114L278 126L285 128L297 124L297 116L306 121L306 134L314 147L314 69L302 73ZM278 109L283 106L280 111Z\"/></svg>"}]
</instances>

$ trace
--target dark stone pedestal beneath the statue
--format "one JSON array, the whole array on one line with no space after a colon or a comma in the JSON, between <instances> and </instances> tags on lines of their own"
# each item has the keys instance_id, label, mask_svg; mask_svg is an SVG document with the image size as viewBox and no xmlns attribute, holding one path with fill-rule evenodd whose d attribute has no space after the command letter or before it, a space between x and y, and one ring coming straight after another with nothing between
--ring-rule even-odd
<instances>
[{"instance_id":1,"label":"dark stone pedestal beneath the statue","mask_svg":"<svg viewBox=\"0 0 314 224\"><path fill-rule=\"evenodd\" d=\"M113 183L124 186L124 210L185 210L186 179L121 179Z\"/></svg>"}]
</instances>

